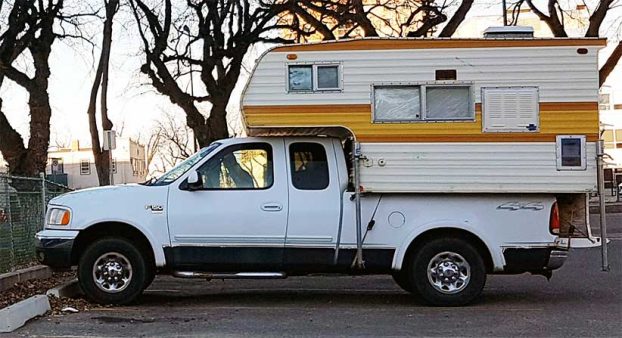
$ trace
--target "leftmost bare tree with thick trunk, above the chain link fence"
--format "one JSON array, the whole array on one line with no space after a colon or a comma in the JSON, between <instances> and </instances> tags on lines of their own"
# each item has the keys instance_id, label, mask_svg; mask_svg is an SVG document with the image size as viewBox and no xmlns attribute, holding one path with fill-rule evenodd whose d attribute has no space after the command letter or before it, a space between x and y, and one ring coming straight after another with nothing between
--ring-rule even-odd
<instances>
[{"instance_id":1,"label":"leftmost bare tree with thick trunk, above the chain link fence","mask_svg":"<svg viewBox=\"0 0 622 338\"><path fill-rule=\"evenodd\" d=\"M9 6L2 1L2 5ZM45 171L50 141L52 109L48 97L49 56L59 36L55 21L63 7L62 0L15 0L2 24L0 33L0 86L5 78L24 88L29 95L30 137L24 145L22 136L2 112L0 99L0 151L9 164L9 172L37 175ZM28 54L32 69L22 70L16 59Z\"/></svg>"}]
</instances>

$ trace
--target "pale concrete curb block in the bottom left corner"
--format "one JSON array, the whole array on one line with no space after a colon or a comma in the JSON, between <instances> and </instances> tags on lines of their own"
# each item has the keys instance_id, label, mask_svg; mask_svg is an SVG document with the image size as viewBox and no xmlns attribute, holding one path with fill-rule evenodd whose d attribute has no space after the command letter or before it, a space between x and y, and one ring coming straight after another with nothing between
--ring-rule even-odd
<instances>
[{"instance_id":1,"label":"pale concrete curb block in the bottom left corner","mask_svg":"<svg viewBox=\"0 0 622 338\"><path fill-rule=\"evenodd\" d=\"M32 296L5 307L0 310L0 332L13 332L24 326L28 320L44 315L50 309L50 300L46 295Z\"/></svg>"}]
</instances>

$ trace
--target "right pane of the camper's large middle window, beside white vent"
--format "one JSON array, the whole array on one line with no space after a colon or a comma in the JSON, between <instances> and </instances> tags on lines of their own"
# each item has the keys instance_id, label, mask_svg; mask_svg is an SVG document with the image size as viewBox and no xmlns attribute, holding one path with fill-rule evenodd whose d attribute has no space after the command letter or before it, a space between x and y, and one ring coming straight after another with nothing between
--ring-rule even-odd
<instances>
[{"instance_id":1,"label":"right pane of the camper's large middle window, beside white vent","mask_svg":"<svg viewBox=\"0 0 622 338\"><path fill-rule=\"evenodd\" d=\"M426 87L426 120L473 119L469 87Z\"/></svg>"}]
</instances>

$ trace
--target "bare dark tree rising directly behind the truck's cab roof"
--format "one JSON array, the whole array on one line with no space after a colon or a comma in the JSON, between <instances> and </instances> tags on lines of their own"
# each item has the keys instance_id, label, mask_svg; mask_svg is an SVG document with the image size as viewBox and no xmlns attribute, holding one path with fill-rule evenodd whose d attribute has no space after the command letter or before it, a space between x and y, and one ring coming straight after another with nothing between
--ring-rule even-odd
<instances>
[{"instance_id":1,"label":"bare dark tree rising directly behind the truck's cab roof","mask_svg":"<svg viewBox=\"0 0 622 338\"><path fill-rule=\"evenodd\" d=\"M255 43L282 41L265 34L279 28L274 9L251 0L187 0L186 8L174 7L170 0L130 4L144 45L141 71L183 109L201 146L228 137L227 105L244 55ZM193 73L201 80L200 94L182 88ZM200 104L208 106L207 114Z\"/></svg>"}]
</instances>

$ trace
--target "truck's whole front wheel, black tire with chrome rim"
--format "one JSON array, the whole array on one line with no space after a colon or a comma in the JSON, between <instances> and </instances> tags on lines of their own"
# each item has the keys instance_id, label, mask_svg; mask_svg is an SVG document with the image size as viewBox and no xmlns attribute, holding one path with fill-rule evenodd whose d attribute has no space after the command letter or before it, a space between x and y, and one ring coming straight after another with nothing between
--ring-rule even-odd
<instances>
[{"instance_id":1,"label":"truck's whole front wheel, black tire with chrome rim","mask_svg":"<svg viewBox=\"0 0 622 338\"><path fill-rule=\"evenodd\" d=\"M78 263L78 281L85 295L100 304L134 301L148 282L147 265L140 250L120 238L91 244Z\"/></svg>"}]
</instances>

